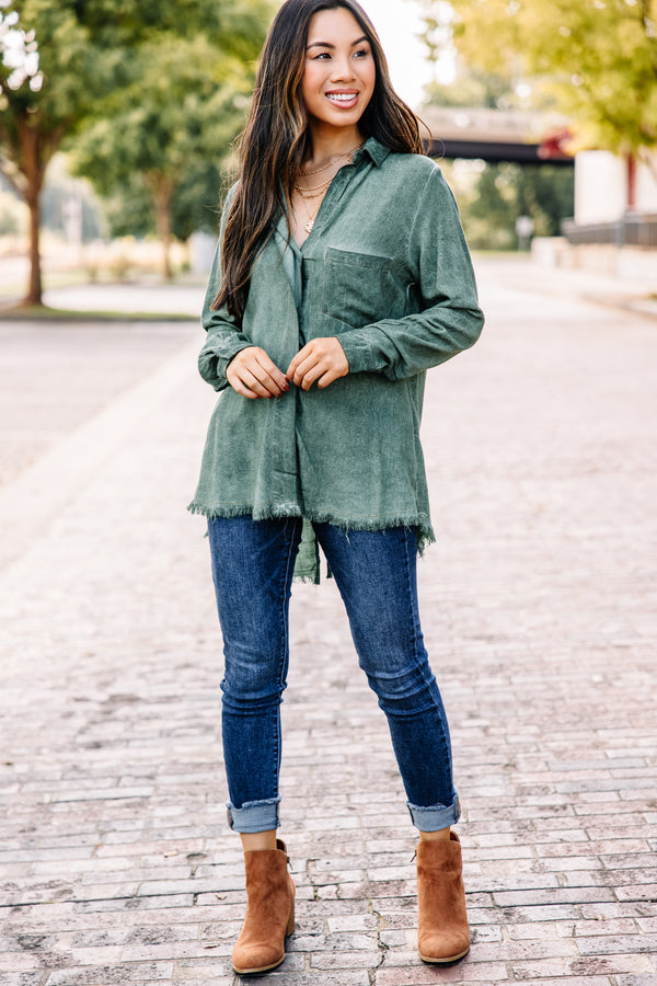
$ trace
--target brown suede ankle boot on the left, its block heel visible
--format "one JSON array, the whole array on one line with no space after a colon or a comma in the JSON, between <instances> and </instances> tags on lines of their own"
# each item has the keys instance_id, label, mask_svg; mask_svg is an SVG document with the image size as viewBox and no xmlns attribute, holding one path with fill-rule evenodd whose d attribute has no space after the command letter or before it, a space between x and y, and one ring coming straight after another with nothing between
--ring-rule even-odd
<instances>
[{"instance_id":1,"label":"brown suede ankle boot on the left, its block heel visible","mask_svg":"<svg viewBox=\"0 0 657 986\"><path fill-rule=\"evenodd\" d=\"M285 937L295 930L295 884L285 842L244 853L246 917L232 953L239 975L267 972L285 959Z\"/></svg>"}]
</instances>

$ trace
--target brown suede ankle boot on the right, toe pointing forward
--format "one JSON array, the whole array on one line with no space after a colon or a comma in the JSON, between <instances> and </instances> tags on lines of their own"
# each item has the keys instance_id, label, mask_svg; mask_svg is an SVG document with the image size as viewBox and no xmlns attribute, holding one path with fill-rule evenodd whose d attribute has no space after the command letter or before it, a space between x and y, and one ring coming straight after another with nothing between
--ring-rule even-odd
<instances>
[{"instance_id":1,"label":"brown suede ankle boot on the right, toe pointing forward","mask_svg":"<svg viewBox=\"0 0 657 986\"><path fill-rule=\"evenodd\" d=\"M456 962L470 950L461 844L420 839L417 846L417 948L423 962Z\"/></svg>"}]
</instances>

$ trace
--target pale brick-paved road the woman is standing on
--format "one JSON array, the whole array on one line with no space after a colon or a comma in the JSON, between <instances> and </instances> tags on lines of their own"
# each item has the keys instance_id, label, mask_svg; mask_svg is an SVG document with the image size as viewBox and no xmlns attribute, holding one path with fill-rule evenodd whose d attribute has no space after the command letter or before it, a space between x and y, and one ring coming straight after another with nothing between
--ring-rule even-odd
<instances>
[{"instance_id":1,"label":"pale brick-paved road the woman is standing on","mask_svg":"<svg viewBox=\"0 0 657 986\"><path fill-rule=\"evenodd\" d=\"M283 777L298 929L273 984L657 983L657 323L503 266L480 278L481 343L430 375L438 543L420 564L475 943L451 970L416 958L384 721L333 585L300 586ZM0 575L0 986L237 982L220 641L184 511L214 401L192 334L1 494L22 527Z\"/></svg>"}]
</instances>

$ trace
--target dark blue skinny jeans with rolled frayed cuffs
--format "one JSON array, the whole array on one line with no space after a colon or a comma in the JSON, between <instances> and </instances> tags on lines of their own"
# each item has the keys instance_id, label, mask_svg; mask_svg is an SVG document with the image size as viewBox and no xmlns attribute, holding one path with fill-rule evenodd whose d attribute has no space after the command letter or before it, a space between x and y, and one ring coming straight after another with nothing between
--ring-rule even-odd
<instances>
[{"instance_id":1,"label":"dark blue skinny jeans with rolled frayed cuffs","mask_svg":"<svg viewBox=\"0 0 657 986\"><path fill-rule=\"evenodd\" d=\"M278 828L280 703L288 672L288 611L301 519L208 521L226 657L221 732L240 833ZM385 713L413 824L424 832L460 814L449 727L419 626L416 531L313 524L345 604L358 663Z\"/></svg>"}]
</instances>

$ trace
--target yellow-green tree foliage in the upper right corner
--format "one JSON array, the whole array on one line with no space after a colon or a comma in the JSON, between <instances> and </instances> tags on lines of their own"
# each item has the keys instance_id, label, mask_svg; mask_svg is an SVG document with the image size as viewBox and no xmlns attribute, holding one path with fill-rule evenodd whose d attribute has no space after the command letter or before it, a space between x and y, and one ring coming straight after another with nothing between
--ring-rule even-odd
<instances>
[{"instance_id":1,"label":"yellow-green tree foliage in the upper right corner","mask_svg":"<svg viewBox=\"0 0 657 986\"><path fill-rule=\"evenodd\" d=\"M577 123L581 147L657 149L657 0L425 0L427 31L463 59L530 77Z\"/></svg>"}]
</instances>

